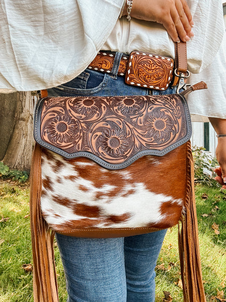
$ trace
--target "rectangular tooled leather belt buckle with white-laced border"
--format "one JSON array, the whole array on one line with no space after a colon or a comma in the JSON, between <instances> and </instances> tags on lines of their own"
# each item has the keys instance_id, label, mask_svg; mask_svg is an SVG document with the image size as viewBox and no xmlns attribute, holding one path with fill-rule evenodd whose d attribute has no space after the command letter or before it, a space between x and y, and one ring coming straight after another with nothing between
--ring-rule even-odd
<instances>
[{"instance_id":1,"label":"rectangular tooled leather belt buckle with white-laced border","mask_svg":"<svg viewBox=\"0 0 226 302\"><path fill-rule=\"evenodd\" d=\"M125 82L138 87L166 90L173 78L173 68L172 58L132 51Z\"/></svg>"}]
</instances>

